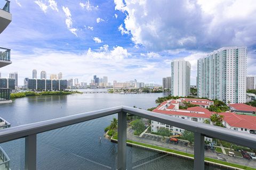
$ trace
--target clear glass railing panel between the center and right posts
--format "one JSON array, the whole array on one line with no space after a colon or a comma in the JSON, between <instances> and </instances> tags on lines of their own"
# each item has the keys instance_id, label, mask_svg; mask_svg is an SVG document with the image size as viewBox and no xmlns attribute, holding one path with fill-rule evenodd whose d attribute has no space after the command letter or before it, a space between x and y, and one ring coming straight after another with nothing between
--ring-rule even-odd
<instances>
[{"instance_id":1,"label":"clear glass railing panel between the center and right posts","mask_svg":"<svg viewBox=\"0 0 256 170\"><path fill-rule=\"evenodd\" d=\"M138 116L128 117L127 169L194 168L193 132Z\"/></svg>"}]
</instances>

